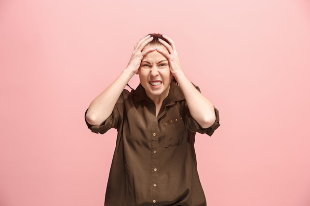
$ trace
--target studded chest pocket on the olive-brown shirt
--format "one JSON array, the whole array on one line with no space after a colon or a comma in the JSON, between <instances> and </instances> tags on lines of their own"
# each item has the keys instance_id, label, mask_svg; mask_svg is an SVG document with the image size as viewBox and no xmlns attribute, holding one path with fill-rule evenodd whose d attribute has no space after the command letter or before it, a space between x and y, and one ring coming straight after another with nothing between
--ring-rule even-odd
<instances>
[{"instance_id":1,"label":"studded chest pocket on the olive-brown shirt","mask_svg":"<svg viewBox=\"0 0 310 206\"><path fill-rule=\"evenodd\" d=\"M182 117L167 120L164 123L165 147L186 143L185 125Z\"/></svg>"}]
</instances>

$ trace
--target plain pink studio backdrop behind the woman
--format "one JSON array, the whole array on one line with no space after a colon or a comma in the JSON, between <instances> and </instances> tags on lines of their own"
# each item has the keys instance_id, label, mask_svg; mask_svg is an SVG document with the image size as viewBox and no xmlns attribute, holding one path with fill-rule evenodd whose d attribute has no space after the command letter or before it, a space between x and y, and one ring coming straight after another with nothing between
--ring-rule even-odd
<instances>
[{"instance_id":1,"label":"plain pink studio backdrop behind the woman","mask_svg":"<svg viewBox=\"0 0 310 206\"><path fill-rule=\"evenodd\" d=\"M149 33L220 111L208 206L310 206L308 0L1 0L0 206L103 206L116 131L84 112Z\"/></svg>"}]
</instances>

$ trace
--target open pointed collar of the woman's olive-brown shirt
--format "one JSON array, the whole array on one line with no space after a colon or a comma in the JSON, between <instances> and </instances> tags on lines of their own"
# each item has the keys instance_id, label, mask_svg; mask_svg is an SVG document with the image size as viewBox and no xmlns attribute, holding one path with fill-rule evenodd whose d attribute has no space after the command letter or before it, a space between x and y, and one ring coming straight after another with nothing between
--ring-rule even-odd
<instances>
[{"instance_id":1,"label":"open pointed collar of the woman's olive-brown shirt","mask_svg":"<svg viewBox=\"0 0 310 206\"><path fill-rule=\"evenodd\" d=\"M133 91L133 93L134 93L133 95L134 103L143 101L143 100L153 103L153 101L147 96L145 89L143 88L141 84L138 85L138 87ZM169 93L166 99L167 101L165 105L169 106L169 105L173 105L176 101L181 101L185 99L185 97L180 87L176 83L171 82Z\"/></svg>"}]
</instances>

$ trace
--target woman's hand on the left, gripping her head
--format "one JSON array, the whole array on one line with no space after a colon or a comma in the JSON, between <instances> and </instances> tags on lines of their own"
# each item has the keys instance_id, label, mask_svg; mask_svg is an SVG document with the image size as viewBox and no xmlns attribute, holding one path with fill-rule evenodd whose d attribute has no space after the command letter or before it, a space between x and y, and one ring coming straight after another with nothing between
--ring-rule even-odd
<instances>
[{"instance_id":1,"label":"woman's hand on the left, gripping her head","mask_svg":"<svg viewBox=\"0 0 310 206\"><path fill-rule=\"evenodd\" d=\"M141 64L143 57L147 53L156 50L156 48L154 47L147 47L146 49L144 49L145 46L152 40L153 40L153 37L148 35L142 38L140 41L138 41L138 43L134 47L134 51L131 54L131 58L129 60L129 63L126 69L131 70L134 74L138 74L138 70L140 68L140 64Z\"/></svg>"}]
</instances>

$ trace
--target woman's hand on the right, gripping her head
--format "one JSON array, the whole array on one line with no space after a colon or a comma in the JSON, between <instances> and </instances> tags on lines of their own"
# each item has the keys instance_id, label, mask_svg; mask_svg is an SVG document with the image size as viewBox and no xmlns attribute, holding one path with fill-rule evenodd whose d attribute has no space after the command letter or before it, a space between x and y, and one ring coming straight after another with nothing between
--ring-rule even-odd
<instances>
[{"instance_id":1,"label":"woman's hand on the right, gripping her head","mask_svg":"<svg viewBox=\"0 0 310 206\"><path fill-rule=\"evenodd\" d=\"M174 43L174 41L172 41L167 36L163 35L162 37L165 38L170 43L170 45L169 45L166 41L159 39L159 42L162 45L164 45L167 48L168 51L165 51L163 49L157 49L157 51L167 58L167 60L169 62L169 66L170 66L170 71L171 71L172 75L174 77L176 77L176 75L178 73L183 72L183 71L182 71L182 68L181 68L181 64L180 64L180 60L179 60L179 55L178 55L178 53L176 51L175 43Z\"/></svg>"}]
</instances>

